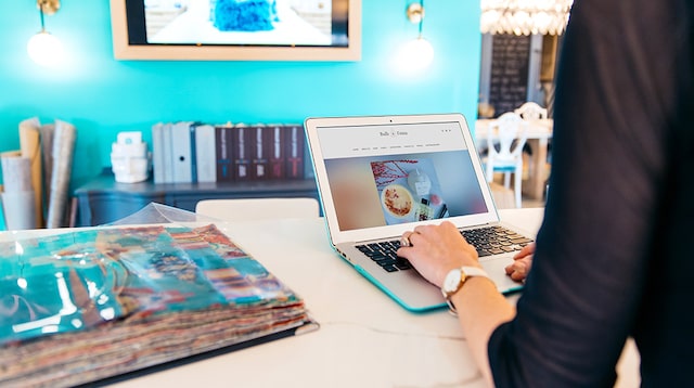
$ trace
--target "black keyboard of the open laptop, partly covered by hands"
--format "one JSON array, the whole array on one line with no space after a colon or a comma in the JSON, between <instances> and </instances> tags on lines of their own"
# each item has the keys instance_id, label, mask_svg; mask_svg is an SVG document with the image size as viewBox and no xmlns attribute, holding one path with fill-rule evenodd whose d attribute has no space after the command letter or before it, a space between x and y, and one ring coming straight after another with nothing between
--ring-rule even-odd
<instances>
[{"instance_id":1,"label":"black keyboard of the open laptop, partly covered by hands","mask_svg":"<svg viewBox=\"0 0 694 388\"><path fill-rule=\"evenodd\" d=\"M460 233L477 249L477 255L480 260L484 260L486 256L520 250L524 246L532 242L530 238L499 225L471 229L461 231ZM381 268L388 272L403 271L412 268L412 264L410 264L406 258L399 257L396 254L399 247L399 240L357 245L357 249L369 256L381 266Z\"/></svg>"}]
</instances>

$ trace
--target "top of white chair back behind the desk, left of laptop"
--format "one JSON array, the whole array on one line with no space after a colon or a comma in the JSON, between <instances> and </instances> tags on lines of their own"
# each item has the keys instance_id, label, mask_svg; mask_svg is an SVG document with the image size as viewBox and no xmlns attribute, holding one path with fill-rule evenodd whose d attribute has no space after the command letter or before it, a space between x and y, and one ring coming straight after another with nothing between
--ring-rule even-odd
<instances>
[{"instance_id":1,"label":"top of white chair back behind the desk, left of laptop","mask_svg":"<svg viewBox=\"0 0 694 388\"><path fill-rule=\"evenodd\" d=\"M308 197L203 199L195 206L195 212L224 221L320 216L318 201Z\"/></svg>"}]
</instances>

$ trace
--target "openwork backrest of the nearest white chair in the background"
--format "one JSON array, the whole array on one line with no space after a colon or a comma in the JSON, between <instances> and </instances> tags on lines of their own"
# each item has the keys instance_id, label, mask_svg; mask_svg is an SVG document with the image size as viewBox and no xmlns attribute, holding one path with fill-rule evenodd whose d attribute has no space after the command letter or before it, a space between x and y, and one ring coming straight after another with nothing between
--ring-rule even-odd
<instances>
[{"instance_id":1,"label":"openwork backrest of the nearest white chair in the background","mask_svg":"<svg viewBox=\"0 0 694 388\"><path fill-rule=\"evenodd\" d=\"M522 157L527 140L528 122L514 112L506 112L491 121L487 131L487 147L491 161L515 161ZM497 150L494 143L499 144Z\"/></svg>"}]
</instances>

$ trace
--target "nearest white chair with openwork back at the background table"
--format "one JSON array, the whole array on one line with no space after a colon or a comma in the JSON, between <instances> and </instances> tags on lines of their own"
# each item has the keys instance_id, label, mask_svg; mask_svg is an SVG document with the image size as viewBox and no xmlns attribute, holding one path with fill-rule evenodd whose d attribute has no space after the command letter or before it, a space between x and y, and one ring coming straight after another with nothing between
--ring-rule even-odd
<instances>
[{"instance_id":1,"label":"nearest white chair with openwork back at the background table","mask_svg":"<svg viewBox=\"0 0 694 388\"><path fill-rule=\"evenodd\" d=\"M493 182L494 172L503 172L504 187L509 189L514 174L515 205L522 207L523 146L527 139L528 122L518 114L506 112L489 125L487 131L487 181Z\"/></svg>"}]
</instances>

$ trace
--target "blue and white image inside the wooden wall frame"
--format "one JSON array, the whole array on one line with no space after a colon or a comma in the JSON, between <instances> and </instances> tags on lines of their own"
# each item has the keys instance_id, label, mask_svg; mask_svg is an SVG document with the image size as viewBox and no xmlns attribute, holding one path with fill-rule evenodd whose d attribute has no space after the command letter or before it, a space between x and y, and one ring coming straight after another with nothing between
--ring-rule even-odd
<instances>
[{"instance_id":1,"label":"blue and white image inside the wooden wall frame","mask_svg":"<svg viewBox=\"0 0 694 388\"><path fill-rule=\"evenodd\" d=\"M149 44L335 44L331 0L138 1Z\"/></svg>"}]
</instances>

